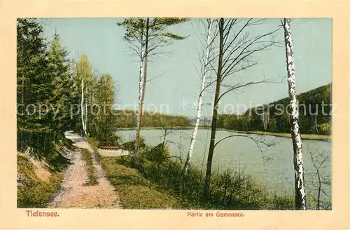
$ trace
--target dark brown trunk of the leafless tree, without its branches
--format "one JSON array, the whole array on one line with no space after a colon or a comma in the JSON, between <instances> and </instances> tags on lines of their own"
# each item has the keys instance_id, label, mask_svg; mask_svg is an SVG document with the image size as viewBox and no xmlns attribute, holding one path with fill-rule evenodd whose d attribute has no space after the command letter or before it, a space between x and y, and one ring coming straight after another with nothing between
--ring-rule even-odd
<instances>
[{"instance_id":1,"label":"dark brown trunk of the leafless tree, without its branches","mask_svg":"<svg viewBox=\"0 0 350 230\"><path fill-rule=\"evenodd\" d=\"M210 145L209 145L209 153L207 160L207 172L205 177L204 184L204 201L209 201L209 187L210 187L210 177L211 177L211 163L213 161L214 154L214 145L215 145L215 135L216 135L216 123L218 120L218 98L220 97L220 88L221 88L221 74L223 71L223 30L224 30L224 22L223 18L220 18L219 21L219 60L218 60L218 74L216 76L216 90L215 90L215 98L214 98L214 108L213 108L213 118L211 121L211 137L210 137Z\"/></svg>"}]
</instances>

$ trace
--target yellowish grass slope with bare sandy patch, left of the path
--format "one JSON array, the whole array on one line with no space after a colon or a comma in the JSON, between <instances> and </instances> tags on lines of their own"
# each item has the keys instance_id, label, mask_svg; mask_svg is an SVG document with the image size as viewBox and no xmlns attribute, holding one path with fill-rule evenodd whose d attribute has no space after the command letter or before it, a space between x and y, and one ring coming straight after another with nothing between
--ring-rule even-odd
<instances>
[{"instance_id":1,"label":"yellowish grass slope with bare sandy patch, left of the path","mask_svg":"<svg viewBox=\"0 0 350 230\"><path fill-rule=\"evenodd\" d=\"M49 172L40 164L34 165L27 156L18 154L18 208L45 208L52 194L59 189L64 172Z\"/></svg>"}]
</instances>

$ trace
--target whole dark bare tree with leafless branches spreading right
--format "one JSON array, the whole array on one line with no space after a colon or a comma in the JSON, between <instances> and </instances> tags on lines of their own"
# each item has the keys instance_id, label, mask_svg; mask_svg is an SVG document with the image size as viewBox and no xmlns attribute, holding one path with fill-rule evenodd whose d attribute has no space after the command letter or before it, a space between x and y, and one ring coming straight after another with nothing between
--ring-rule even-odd
<instances>
[{"instance_id":1,"label":"whole dark bare tree with leafless branches spreading right","mask_svg":"<svg viewBox=\"0 0 350 230\"><path fill-rule=\"evenodd\" d=\"M251 35L249 29L261 25L264 19L239 19L220 18L218 22L219 52L218 67L216 69L216 89L214 95L213 114L211 120L211 137L207 158L207 172L204 184L204 201L209 200L211 179L211 165L214 156L214 148L217 144L229 137L248 137L256 144L266 144L263 140L255 140L248 135L229 135L216 142L216 126L218 120L218 105L225 95L239 88L247 88L258 83L272 83L265 77L261 81L241 81L241 78L230 78L250 67L258 64L253 60L255 53L268 50L276 44L274 34L278 29L273 29L262 34ZM230 79L230 81L228 81ZM223 88L224 90L221 90ZM259 146L258 146L259 147ZM259 147L260 148L260 147ZM261 149L260 149L261 150Z\"/></svg>"}]
</instances>

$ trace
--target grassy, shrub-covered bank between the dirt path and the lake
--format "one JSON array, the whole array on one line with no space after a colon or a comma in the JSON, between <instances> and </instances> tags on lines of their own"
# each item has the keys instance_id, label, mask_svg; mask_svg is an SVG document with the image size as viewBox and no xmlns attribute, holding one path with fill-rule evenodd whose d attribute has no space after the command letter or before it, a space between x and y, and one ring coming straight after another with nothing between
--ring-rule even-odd
<instances>
[{"instance_id":1,"label":"grassy, shrub-covered bank between the dirt path and the lake","mask_svg":"<svg viewBox=\"0 0 350 230\"><path fill-rule=\"evenodd\" d=\"M108 158L99 157L96 141L90 144L125 208L293 209L293 196L269 194L252 177L231 170L213 173L211 198L203 203L205 172L190 165L181 189L183 163L167 157L169 152L161 144L145 147L139 154Z\"/></svg>"}]
</instances>

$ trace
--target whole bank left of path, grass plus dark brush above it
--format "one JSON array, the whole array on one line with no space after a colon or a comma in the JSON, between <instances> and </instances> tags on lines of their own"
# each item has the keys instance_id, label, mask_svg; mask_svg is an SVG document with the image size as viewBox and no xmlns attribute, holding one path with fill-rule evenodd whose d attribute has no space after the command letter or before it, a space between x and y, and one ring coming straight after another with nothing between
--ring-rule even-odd
<instances>
[{"instance_id":1,"label":"whole bank left of path, grass plus dark brush above it","mask_svg":"<svg viewBox=\"0 0 350 230\"><path fill-rule=\"evenodd\" d=\"M69 164L65 153L73 148L69 139L61 139L45 149L31 149L29 154L17 154L18 208L45 208L59 190L64 171Z\"/></svg>"}]
</instances>

